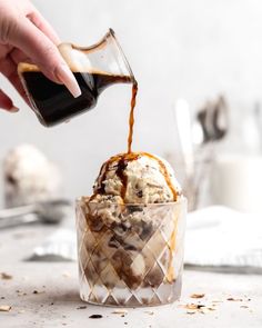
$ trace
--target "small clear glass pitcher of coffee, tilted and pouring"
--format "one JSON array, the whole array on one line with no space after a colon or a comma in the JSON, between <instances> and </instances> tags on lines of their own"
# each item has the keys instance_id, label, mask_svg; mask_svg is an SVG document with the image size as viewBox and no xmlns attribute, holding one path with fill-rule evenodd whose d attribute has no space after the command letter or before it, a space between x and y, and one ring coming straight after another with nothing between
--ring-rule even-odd
<instances>
[{"instance_id":1,"label":"small clear glass pitcher of coffee, tilted and pouring","mask_svg":"<svg viewBox=\"0 0 262 328\"><path fill-rule=\"evenodd\" d=\"M61 43L58 48L82 91L78 98L71 96L66 86L49 80L36 64L21 62L18 66L31 107L46 127L92 109L99 95L113 83L135 82L112 29L91 47Z\"/></svg>"}]
</instances>

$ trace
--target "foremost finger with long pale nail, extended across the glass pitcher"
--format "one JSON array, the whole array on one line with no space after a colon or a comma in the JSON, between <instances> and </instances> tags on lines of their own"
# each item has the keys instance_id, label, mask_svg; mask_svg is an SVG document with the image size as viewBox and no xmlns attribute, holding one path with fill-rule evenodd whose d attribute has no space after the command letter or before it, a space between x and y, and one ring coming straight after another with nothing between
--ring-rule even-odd
<instances>
[{"instance_id":1,"label":"foremost finger with long pale nail, extended across the glass pitcher","mask_svg":"<svg viewBox=\"0 0 262 328\"><path fill-rule=\"evenodd\" d=\"M21 49L50 80L63 83L73 97L81 90L56 44L29 19L22 18L10 33L9 42Z\"/></svg>"}]
</instances>

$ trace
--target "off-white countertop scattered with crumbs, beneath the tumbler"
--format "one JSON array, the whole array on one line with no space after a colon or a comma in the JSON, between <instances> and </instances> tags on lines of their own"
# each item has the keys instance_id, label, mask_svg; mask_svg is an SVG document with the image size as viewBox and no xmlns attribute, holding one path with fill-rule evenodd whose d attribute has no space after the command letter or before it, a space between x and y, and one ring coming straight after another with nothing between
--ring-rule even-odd
<instances>
[{"instance_id":1,"label":"off-white countertop scattered with crumbs, beneath the tumbler","mask_svg":"<svg viewBox=\"0 0 262 328\"><path fill-rule=\"evenodd\" d=\"M79 298L75 262L27 261L52 230L34 226L0 231L0 272L12 276L1 279L0 275L0 307L11 306L10 311L0 311L1 328L262 327L262 275L185 270L181 300L170 306L113 314L115 308L84 304ZM192 294L205 296L193 299ZM214 310L189 314L183 306L191 302ZM91 319L91 315L102 318Z\"/></svg>"}]
</instances>

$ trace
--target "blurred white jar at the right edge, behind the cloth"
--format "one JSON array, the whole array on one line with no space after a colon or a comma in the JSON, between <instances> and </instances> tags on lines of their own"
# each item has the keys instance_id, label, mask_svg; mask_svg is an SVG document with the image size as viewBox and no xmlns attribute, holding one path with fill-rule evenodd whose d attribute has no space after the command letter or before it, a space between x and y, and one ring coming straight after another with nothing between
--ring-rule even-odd
<instances>
[{"instance_id":1,"label":"blurred white jar at the right edge, behind the cloth","mask_svg":"<svg viewBox=\"0 0 262 328\"><path fill-rule=\"evenodd\" d=\"M213 203L244 212L262 213L262 156L221 155L212 163Z\"/></svg>"}]
</instances>

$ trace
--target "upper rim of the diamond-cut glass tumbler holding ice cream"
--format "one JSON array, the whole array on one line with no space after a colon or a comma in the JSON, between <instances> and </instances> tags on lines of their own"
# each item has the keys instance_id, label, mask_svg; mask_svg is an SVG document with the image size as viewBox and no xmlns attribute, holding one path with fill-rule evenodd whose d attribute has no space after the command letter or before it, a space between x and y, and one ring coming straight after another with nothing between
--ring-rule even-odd
<instances>
[{"instance_id":1,"label":"upper rim of the diamond-cut glass tumbler holding ice cream","mask_svg":"<svg viewBox=\"0 0 262 328\"><path fill-rule=\"evenodd\" d=\"M80 196L75 199L75 205L82 203L83 198L88 199L90 198L89 196ZM85 203L85 202L84 202ZM111 206L120 206L120 207L132 207L132 206L137 206L137 207L158 207L158 206L179 206L179 205L187 205L188 203L188 199L185 196L180 196L180 198L177 201L167 201L167 202L112 202L112 201L103 201L103 202L99 202L99 201L89 201L88 203L93 203L93 205L111 205Z\"/></svg>"}]
</instances>

